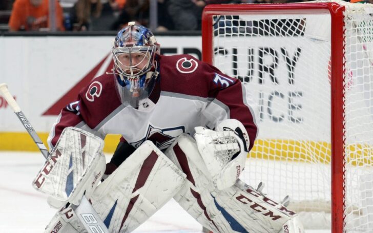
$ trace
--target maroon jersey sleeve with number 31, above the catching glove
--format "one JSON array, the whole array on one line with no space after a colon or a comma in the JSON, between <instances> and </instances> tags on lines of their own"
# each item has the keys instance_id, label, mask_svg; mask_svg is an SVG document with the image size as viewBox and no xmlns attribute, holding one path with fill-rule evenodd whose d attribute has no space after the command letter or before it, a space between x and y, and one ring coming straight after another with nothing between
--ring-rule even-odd
<instances>
[{"instance_id":1,"label":"maroon jersey sleeve with number 31, above the catching glove","mask_svg":"<svg viewBox=\"0 0 373 233\"><path fill-rule=\"evenodd\" d=\"M206 102L196 124L212 129L224 119L239 120L250 138L249 150L252 149L258 132L253 111L256 108L246 98L250 93L246 93L239 79L188 54L162 56L160 67L162 91L197 97L196 101Z\"/></svg>"}]
</instances>

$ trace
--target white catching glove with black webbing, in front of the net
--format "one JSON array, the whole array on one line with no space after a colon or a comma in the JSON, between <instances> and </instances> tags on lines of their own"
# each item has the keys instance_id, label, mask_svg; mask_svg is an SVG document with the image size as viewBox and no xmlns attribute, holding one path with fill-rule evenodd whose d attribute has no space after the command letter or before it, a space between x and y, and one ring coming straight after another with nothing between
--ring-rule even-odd
<instances>
[{"instance_id":1,"label":"white catching glove with black webbing, in front of the net","mask_svg":"<svg viewBox=\"0 0 373 233\"><path fill-rule=\"evenodd\" d=\"M198 151L219 190L236 183L245 166L250 142L241 122L226 119L216 131L203 127L195 128Z\"/></svg>"}]
</instances>

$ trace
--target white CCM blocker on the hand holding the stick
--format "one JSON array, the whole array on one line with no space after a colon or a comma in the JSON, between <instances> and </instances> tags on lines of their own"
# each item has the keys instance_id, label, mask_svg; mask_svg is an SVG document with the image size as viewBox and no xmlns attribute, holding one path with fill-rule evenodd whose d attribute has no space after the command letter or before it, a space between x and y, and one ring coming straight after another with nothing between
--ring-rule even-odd
<instances>
[{"instance_id":1,"label":"white CCM blocker on the hand holding the stick","mask_svg":"<svg viewBox=\"0 0 373 233\"><path fill-rule=\"evenodd\" d=\"M105 172L103 141L86 131L64 129L56 146L33 181L33 187L49 195L55 208L67 202L78 205L84 193L89 197Z\"/></svg>"}]
</instances>

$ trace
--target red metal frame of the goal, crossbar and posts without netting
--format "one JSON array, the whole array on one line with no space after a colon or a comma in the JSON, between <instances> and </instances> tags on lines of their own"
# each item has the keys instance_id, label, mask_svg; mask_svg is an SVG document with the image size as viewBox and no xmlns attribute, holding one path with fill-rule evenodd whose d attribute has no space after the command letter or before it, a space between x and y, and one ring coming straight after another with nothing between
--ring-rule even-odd
<instances>
[{"instance_id":1,"label":"red metal frame of the goal, crossbar and posts without netting","mask_svg":"<svg viewBox=\"0 0 373 233\"><path fill-rule=\"evenodd\" d=\"M213 64L213 16L240 14L325 13L331 16L331 232L344 229L344 81L345 7L337 3L220 4L208 5L202 13L202 60ZM219 67L218 67L219 68Z\"/></svg>"}]
</instances>

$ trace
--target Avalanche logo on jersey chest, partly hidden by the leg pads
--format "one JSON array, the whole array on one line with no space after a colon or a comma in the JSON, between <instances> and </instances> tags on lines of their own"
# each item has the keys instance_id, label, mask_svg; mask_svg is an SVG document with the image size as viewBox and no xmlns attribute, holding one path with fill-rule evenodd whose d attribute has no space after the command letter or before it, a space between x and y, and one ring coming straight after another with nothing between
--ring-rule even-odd
<instances>
[{"instance_id":1,"label":"Avalanche logo on jersey chest, partly hidden by the leg pads","mask_svg":"<svg viewBox=\"0 0 373 233\"><path fill-rule=\"evenodd\" d=\"M152 141L159 150L167 149L174 140L182 133L185 133L184 126L178 126L175 128L159 129L152 125L148 126L147 135L137 142L131 142L130 144L135 148L139 147L144 141Z\"/></svg>"}]
</instances>

